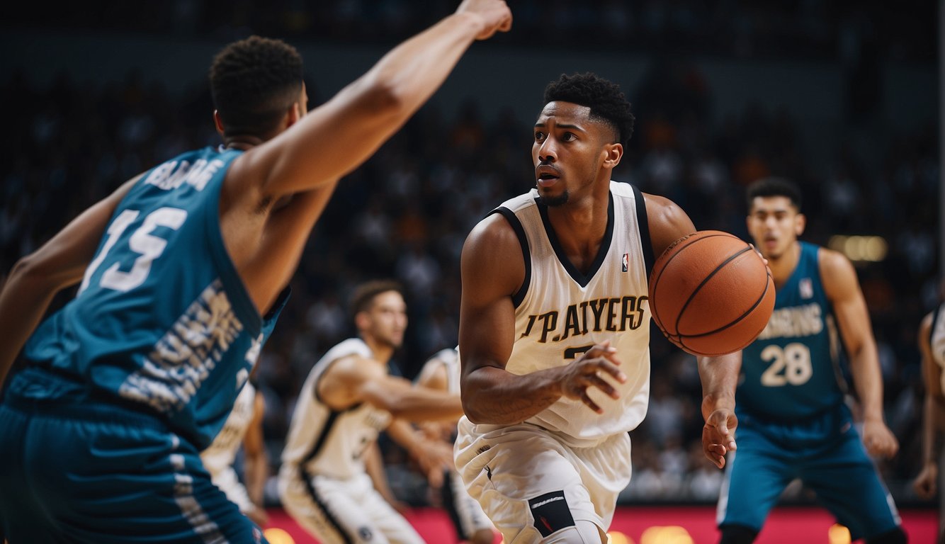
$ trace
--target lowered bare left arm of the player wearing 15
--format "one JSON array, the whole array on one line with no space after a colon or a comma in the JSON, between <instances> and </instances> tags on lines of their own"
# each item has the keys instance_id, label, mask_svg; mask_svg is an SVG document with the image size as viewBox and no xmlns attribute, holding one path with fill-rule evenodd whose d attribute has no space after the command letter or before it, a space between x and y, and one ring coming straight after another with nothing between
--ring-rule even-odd
<instances>
[{"instance_id":1,"label":"lowered bare left arm of the player wearing 15","mask_svg":"<svg viewBox=\"0 0 945 544\"><path fill-rule=\"evenodd\" d=\"M129 179L13 265L0 291L0 331L4 336L0 342L0 385L53 297L82 280L112 212L139 178Z\"/></svg>"}]
</instances>

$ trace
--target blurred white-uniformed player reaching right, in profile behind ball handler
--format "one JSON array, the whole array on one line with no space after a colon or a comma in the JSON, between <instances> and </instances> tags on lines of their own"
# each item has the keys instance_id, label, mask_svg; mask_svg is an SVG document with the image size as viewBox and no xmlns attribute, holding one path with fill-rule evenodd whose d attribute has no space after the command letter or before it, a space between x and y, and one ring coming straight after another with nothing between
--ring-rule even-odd
<instances>
[{"instance_id":1,"label":"blurred white-uniformed player reaching right, in profile behind ball handler","mask_svg":"<svg viewBox=\"0 0 945 544\"><path fill-rule=\"evenodd\" d=\"M399 283L374 280L352 295L358 337L328 350L301 386L279 470L286 512L323 544L423 542L374 487L365 452L387 431L437 474L452 448L426 440L406 421L455 419L455 395L414 387L387 373L404 341L406 304Z\"/></svg>"}]
</instances>

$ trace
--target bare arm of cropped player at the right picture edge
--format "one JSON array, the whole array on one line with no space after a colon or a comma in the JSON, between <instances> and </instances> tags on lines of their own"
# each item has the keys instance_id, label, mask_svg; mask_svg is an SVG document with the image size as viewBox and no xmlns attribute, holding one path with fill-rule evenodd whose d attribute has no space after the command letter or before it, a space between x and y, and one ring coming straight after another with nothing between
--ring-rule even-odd
<instances>
[{"instance_id":1,"label":"bare arm of cropped player at the right picture edge","mask_svg":"<svg viewBox=\"0 0 945 544\"><path fill-rule=\"evenodd\" d=\"M922 468L912 486L922 499L932 499L938 488L938 456L941 451L939 433L945 429L945 392L942 391L942 369L932 356L930 335L932 314L919 325L919 353L922 356L922 380L925 400L922 404Z\"/></svg>"}]
</instances>

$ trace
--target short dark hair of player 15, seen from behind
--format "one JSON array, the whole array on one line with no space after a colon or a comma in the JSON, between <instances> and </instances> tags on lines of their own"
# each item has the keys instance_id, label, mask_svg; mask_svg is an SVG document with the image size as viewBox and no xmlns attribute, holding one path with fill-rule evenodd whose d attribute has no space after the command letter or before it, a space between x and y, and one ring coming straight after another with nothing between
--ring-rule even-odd
<instances>
[{"instance_id":1,"label":"short dark hair of player 15, seen from behind","mask_svg":"<svg viewBox=\"0 0 945 544\"><path fill-rule=\"evenodd\" d=\"M227 134L266 136L299 100L301 55L281 40L250 36L216 54L210 67L214 108Z\"/></svg>"}]
</instances>

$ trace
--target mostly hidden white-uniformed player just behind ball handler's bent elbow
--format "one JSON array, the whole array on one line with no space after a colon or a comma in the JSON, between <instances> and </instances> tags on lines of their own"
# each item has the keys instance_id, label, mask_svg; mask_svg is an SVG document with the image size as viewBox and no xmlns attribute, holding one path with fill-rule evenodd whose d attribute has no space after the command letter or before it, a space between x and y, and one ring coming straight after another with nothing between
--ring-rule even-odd
<instances>
[{"instance_id":1,"label":"mostly hidden white-uniformed player just behind ball handler's bent elbow","mask_svg":"<svg viewBox=\"0 0 945 544\"><path fill-rule=\"evenodd\" d=\"M459 395L459 352L456 348L440 349L423 364L417 384L438 391ZM452 446L456 438L456 421L430 423L429 434ZM450 467L439 487L443 506L453 521L460 540L472 544L490 544L495 538L492 523L482 506L470 497L455 467Z\"/></svg>"}]
</instances>

